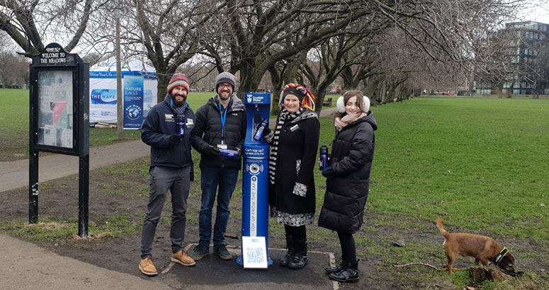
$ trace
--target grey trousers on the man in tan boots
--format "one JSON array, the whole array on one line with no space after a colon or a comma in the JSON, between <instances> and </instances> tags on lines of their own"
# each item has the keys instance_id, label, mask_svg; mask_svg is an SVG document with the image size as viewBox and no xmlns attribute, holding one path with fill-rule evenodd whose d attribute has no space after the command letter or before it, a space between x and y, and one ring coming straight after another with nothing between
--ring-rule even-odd
<instances>
[{"instance_id":1,"label":"grey trousers on the man in tan boots","mask_svg":"<svg viewBox=\"0 0 549 290\"><path fill-rule=\"evenodd\" d=\"M149 204L143 222L141 236L141 258L152 257L152 240L162 215L168 190L171 192L171 252L183 250L185 224L187 221L187 197L191 186L191 166L172 168L156 166L149 172Z\"/></svg>"}]
</instances>

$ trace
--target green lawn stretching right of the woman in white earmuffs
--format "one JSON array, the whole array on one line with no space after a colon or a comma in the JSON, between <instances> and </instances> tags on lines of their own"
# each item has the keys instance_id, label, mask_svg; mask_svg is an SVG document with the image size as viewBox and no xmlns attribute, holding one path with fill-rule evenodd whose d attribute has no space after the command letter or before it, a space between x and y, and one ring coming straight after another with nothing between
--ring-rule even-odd
<instances>
[{"instance_id":1,"label":"green lawn stretching right of the woman in white earmuffs","mask_svg":"<svg viewBox=\"0 0 549 290\"><path fill-rule=\"evenodd\" d=\"M414 98L373 112L370 211L549 239L549 100Z\"/></svg>"}]
</instances>

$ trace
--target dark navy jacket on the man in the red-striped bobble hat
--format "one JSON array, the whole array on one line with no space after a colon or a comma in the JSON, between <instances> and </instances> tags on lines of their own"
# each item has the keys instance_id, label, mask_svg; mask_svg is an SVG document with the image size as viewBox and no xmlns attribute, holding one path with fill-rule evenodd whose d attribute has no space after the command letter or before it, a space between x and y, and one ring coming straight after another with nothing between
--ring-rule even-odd
<instances>
[{"instance_id":1,"label":"dark navy jacket on the man in the red-striped bobble hat","mask_svg":"<svg viewBox=\"0 0 549 290\"><path fill-rule=\"evenodd\" d=\"M184 168L192 166L191 131L196 117L188 105L184 114L186 128L179 145L170 146L169 138L176 133L176 113L166 102L154 105L141 125L141 140L151 146L151 166Z\"/></svg>"}]
</instances>

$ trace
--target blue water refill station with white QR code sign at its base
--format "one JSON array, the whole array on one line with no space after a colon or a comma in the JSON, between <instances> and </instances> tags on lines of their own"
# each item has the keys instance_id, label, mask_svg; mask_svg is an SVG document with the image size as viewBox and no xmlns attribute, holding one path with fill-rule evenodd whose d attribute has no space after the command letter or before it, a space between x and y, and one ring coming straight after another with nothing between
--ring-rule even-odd
<instances>
[{"instance_id":1,"label":"blue water refill station with white QR code sign at its base","mask_svg":"<svg viewBox=\"0 0 549 290\"><path fill-rule=\"evenodd\" d=\"M259 135L269 120L271 94L244 93L244 105L248 126L242 174L242 256L237 263L266 268L273 264L268 256L268 144Z\"/></svg>"}]
</instances>

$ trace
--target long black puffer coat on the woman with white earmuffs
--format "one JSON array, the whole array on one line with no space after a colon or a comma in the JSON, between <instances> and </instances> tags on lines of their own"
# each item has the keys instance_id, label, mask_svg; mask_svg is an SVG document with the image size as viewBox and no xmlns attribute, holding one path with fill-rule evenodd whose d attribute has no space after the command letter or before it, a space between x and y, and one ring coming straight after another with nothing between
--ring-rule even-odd
<instances>
[{"instance_id":1,"label":"long black puffer coat on the woman with white earmuffs","mask_svg":"<svg viewBox=\"0 0 549 290\"><path fill-rule=\"evenodd\" d=\"M361 228L370 188L375 129L378 124L369 112L336 133L331 158L334 176L326 180L319 226L343 233L356 233Z\"/></svg>"}]
</instances>

